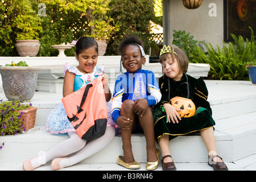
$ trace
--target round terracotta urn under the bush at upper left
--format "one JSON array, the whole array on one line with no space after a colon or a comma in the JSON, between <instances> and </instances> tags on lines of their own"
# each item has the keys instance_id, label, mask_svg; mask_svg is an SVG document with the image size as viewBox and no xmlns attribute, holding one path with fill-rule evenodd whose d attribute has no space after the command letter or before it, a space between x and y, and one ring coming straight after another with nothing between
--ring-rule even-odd
<instances>
[{"instance_id":1,"label":"round terracotta urn under the bush at upper left","mask_svg":"<svg viewBox=\"0 0 256 182\"><path fill-rule=\"evenodd\" d=\"M15 47L20 56L36 56L40 48L39 40L17 40Z\"/></svg>"}]
</instances>

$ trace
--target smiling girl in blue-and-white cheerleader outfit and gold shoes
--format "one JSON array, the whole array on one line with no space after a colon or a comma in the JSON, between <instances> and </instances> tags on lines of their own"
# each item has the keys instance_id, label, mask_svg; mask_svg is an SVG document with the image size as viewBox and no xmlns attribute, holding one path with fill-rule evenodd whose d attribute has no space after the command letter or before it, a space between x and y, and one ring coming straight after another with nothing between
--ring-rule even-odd
<instances>
[{"instance_id":1,"label":"smiling girl in blue-and-white cheerleader outfit and gold shoes","mask_svg":"<svg viewBox=\"0 0 256 182\"><path fill-rule=\"evenodd\" d=\"M129 169L139 169L131 150L131 133L142 131L147 143L147 170L154 170L159 163L159 150L155 147L151 106L161 98L158 83L151 71L143 70L146 63L142 42L136 36L126 36L119 46L122 65L127 72L115 81L112 99L112 118L121 128L123 156L117 163Z\"/></svg>"}]
</instances>

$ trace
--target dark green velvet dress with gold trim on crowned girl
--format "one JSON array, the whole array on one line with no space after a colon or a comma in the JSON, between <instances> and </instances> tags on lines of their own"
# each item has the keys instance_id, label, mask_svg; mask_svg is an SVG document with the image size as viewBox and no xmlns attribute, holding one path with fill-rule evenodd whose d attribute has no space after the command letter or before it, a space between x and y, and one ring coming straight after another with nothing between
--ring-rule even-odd
<instances>
[{"instance_id":1,"label":"dark green velvet dress with gold trim on crowned girl","mask_svg":"<svg viewBox=\"0 0 256 182\"><path fill-rule=\"evenodd\" d=\"M182 84L183 82L189 83L189 89L187 84ZM153 109L156 142L159 142L159 138L163 135L169 135L171 140L179 135L191 134L215 125L212 109L207 101L207 86L202 78L196 79L183 73L180 81L174 81L167 76L162 76L159 78L159 88L162 98ZM196 106L196 113L192 117L181 118L179 123L172 123L172 121L169 123L166 122L166 112L163 111L162 106L164 103L171 104L170 99L175 96L189 97Z\"/></svg>"}]
</instances>

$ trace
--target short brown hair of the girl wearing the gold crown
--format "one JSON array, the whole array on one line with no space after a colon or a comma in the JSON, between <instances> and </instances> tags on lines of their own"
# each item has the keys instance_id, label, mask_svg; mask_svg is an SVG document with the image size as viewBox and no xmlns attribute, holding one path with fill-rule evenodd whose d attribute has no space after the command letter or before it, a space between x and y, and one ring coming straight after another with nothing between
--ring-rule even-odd
<instances>
[{"instance_id":1,"label":"short brown hair of the girl wearing the gold crown","mask_svg":"<svg viewBox=\"0 0 256 182\"><path fill-rule=\"evenodd\" d=\"M162 64L163 61L167 60L172 57L172 60L177 60L178 67L180 68L180 72L187 73L188 71L188 57L185 52L176 47L171 47L171 53L164 53L159 57L159 63Z\"/></svg>"}]
</instances>

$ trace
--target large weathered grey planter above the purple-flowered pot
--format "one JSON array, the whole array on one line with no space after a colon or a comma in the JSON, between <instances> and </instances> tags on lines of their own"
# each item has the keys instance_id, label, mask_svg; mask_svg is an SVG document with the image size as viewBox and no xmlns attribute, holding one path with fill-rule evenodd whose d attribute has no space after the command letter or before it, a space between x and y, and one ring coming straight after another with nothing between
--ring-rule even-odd
<instances>
[{"instance_id":1,"label":"large weathered grey planter above the purple-flowered pot","mask_svg":"<svg viewBox=\"0 0 256 182\"><path fill-rule=\"evenodd\" d=\"M0 67L3 91L11 101L31 100L35 94L39 68L28 67L26 61L6 64Z\"/></svg>"}]
</instances>

